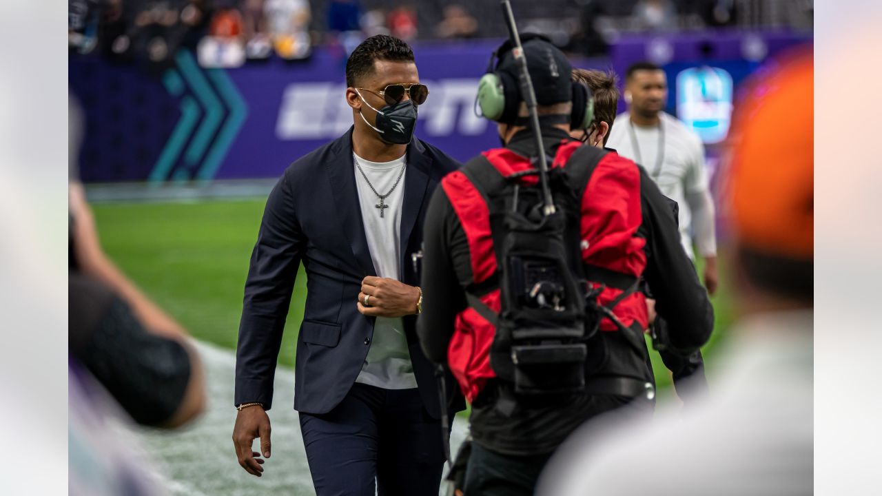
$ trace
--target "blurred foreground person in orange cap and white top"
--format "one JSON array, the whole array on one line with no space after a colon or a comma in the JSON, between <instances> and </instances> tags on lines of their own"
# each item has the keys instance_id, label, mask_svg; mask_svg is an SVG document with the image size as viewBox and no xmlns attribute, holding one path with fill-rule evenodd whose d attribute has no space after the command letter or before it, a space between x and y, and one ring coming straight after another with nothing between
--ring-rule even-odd
<instances>
[{"instance_id":1,"label":"blurred foreground person in orange cap and white top","mask_svg":"<svg viewBox=\"0 0 882 496\"><path fill-rule=\"evenodd\" d=\"M736 114L724 172L740 319L714 395L654 425L587 425L549 465L542 495L811 494L812 79L811 52L786 61ZM633 477L658 447L665 455Z\"/></svg>"}]
</instances>

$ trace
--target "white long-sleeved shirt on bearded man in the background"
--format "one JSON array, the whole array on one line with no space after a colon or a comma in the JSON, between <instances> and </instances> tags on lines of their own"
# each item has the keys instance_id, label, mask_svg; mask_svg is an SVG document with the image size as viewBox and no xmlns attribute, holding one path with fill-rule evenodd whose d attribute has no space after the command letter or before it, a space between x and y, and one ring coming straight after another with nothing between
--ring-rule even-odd
<instances>
[{"instance_id":1,"label":"white long-sleeved shirt on bearded man in the background","mask_svg":"<svg viewBox=\"0 0 882 496\"><path fill-rule=\"evenodd\" d=\"M676 117L664 112L659 116L661 127L642 127L633 124L628 114L617 116L607 146L642 165L662 193L676 201L680 207L680 239L690 258L695 258L690 228L699 253L715 255L714 203L705 169L704 145Z\"/></svg>"}]
</instances>

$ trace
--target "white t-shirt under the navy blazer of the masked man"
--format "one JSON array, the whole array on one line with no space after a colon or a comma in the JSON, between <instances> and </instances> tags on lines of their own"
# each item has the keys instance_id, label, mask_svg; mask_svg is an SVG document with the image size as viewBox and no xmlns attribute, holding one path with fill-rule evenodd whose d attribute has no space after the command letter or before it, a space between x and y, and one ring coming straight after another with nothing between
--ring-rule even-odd
<instances>
[{"instance_id":1,"label":"white t-shirt under the navy blazer of the masked man","mask_svg":"<svg viewBox=\"0 0 882 496\"><path fill-rule=\"evenodd\" d=\"M398 180L405 167L404 156L392 162L370 162L353 154L370 184L380 194L386 194ZM362 207L364 234L368 239L370 259L374 262L377 276L399 279L401 272L401 205L404 200L404 176L388 197L380 199L364 180L362 172L355 168L355 185L358 188L359 205ZM380 217L380 212L383 216ZM404 323L398 319L377 317L374 336L370 342L368 357L364 359L362 372L355 382L385 389L410 389L416 387L414 365L410 362Z\"/></svg>"}]
</instances>

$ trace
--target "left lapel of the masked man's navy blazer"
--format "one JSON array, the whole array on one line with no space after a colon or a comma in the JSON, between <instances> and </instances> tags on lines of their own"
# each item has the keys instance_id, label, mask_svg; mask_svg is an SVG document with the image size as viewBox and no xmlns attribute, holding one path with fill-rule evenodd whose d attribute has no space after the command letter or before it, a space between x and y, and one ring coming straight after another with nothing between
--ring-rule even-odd
<instances>
[{"instance_id":1,"label":"left lapel of the masked man's navy blazer","mask_svg":"<svg viewBox=\"0 0 882 496\"><path fill-rule=\"evenodd\" d=\"M355 165L352 161L352 128L349 128L349 132L337 139L334 144L331 161L327 164L328 177L331 180L334 203L340 211L340 221L352 253L366 275L377 275L373 259L370 258L368 238L364 235L362 207L358 201Z\"/></svg>"}]
</instances>

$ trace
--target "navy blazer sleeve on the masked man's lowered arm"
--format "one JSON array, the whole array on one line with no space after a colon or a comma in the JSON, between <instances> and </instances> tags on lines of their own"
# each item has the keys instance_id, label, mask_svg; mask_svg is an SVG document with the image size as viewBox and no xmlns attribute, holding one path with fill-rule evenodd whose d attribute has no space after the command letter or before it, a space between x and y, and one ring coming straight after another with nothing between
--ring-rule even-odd
<instances>
[{"instance_id":1,"label":"navy blazer sleeve on the masked man's lowered arm","mask_svg":"<svg viewBox=\"0 0 882 496\"><path fill-rule=\"evenodd\" d=\"M273 404L281 336L306 237L296 221L294 196L282 176L266 199L258 242L251 252L235 359L235 404Z\"/></svg>"}]
</instances>

